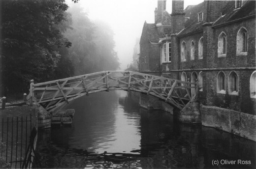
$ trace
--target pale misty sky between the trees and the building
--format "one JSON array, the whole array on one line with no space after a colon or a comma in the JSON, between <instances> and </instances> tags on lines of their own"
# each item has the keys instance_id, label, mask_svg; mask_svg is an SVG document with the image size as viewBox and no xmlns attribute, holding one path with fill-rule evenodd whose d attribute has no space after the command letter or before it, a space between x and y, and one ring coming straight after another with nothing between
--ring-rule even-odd
<instances>
[{"instance_id":1,"label":"pale misty sky between the trees and the building","mask_svg":"<svg viewBox=\"0 0 256 169\"><path fill-rule=\"evenodd\" d=\"M184 7L199 4L203 0L184 0ZM83 6L89 18L103 20L108 23L115 33L115 51L121 63L121 70L125 70L132 62L133 47L136 38L140 38L143 24L155 22L155 8L157 0L79 0L68 5ZM166 1L166 10L171 14L171 0Z\"/></svg>"}]
</instances>

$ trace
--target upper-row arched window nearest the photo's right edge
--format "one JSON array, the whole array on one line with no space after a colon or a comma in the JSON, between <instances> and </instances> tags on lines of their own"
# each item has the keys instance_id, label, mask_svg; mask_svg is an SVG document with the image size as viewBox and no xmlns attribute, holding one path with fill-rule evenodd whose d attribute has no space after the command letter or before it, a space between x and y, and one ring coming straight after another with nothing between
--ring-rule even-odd
<instances>
[{"instance_id":1,"label":"upper-row arched window nearest the photo's right edge","mask_svg":"<svg viewBox=\"0 0 256 169\"><path fill-rule=\"evenodd\" d=\"M248 32L246 28L240 28L236 36L236 55L247 55L248 51Z\"/></svg>"}]
</instances>

